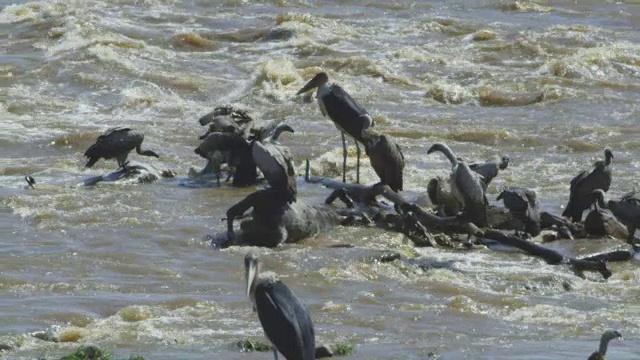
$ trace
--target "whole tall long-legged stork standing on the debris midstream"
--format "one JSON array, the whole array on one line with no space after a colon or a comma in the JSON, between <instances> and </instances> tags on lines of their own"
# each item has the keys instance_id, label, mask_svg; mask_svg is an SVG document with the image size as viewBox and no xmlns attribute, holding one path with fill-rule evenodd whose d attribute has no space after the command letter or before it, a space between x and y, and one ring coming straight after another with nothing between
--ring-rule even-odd
<instances>
[{"instance_id":1,"label":"whole tall long-legged stork standing on the debris midstream","mask_svg":"<svg viewBox=\"0 0 640 360\"><path fill-rule=\"evenodd\" d=\"M315 88L318 88L316 98L322 115L329 116L342 132L342 182L346 182L347 142L344 133L347 133L356 143L356 183L360 183L360 145L358 142L362 142L363 131L373 127L373 118L340 85L329 83L329 75L325 72L316 74L296 95Z\"/></svg>"}]
</instances>

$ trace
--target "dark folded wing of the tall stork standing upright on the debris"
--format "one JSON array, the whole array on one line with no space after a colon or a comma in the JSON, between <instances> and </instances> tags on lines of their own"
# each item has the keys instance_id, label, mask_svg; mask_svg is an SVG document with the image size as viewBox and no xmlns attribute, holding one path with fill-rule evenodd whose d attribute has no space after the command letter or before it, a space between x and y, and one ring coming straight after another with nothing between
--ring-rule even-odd
<instances>
[{"instance_id":1,"label":"dark folded wing of the tall stork standing upright on the debris","mask_svg":"<svg viewBox=\"0 0 640 360\"><path fill-rule=\"evenodd\" d=\"M322 102L336 126L356 140L360 139L363 130L373 126L367 110L339 85L332 85L331 91L322 96Z\"/></svg>"}]
</instances>

